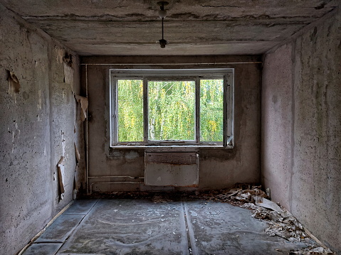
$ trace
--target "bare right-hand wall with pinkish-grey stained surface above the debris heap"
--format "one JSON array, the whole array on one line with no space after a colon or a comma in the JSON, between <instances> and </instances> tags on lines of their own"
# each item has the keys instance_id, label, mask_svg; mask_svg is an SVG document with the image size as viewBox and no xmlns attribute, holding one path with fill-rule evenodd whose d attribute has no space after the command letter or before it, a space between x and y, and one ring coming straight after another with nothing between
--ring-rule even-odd
<instances>
[{"instance_id":1,"label":"bare right-hand wall with pinkish-grey stained surface above the debris heap","mask_svg":"<svg viewBox=\"0 0 341 255\"><path fill-rule=\"evenodd\" d=\"M318 239L341 253L341 13L265 57L262 181Z\"/></svg>"}]
</instances>

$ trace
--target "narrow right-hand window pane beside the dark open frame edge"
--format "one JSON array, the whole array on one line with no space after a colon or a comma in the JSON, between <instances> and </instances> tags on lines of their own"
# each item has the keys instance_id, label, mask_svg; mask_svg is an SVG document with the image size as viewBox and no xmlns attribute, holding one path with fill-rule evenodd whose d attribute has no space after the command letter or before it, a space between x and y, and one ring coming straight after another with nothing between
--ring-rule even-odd
<instances>
[{"instance_id":1,"label":"narrow right-hand window pane beside the dark open frame edge","mask_svg":"<svg viewBox=\"0 0 341 255\"><path fill-rule=\"evenodd\" d=\"M200 80L200 141L223 141L224 80Z\"/></svg>"}]
</instances>

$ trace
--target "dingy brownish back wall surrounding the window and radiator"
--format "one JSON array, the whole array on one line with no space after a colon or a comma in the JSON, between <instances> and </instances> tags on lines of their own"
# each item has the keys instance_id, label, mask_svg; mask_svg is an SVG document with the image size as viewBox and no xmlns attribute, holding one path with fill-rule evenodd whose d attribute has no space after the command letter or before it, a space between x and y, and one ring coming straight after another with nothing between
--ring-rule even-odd
<instances>
[{"instance_id":1,"label":"dingy brownish back wall surrounding the window and radiator","mask_svg":"<svg viewBox=\"0 0 341 255\"><path fill-rule=\"evenodd\" d=\"M199 188L220 189L235 183L255 183L260 180L260 118L261 118L261 70L253 63L259 56L219 57L88 57L83 58L82 84L88 80L89 97L89 175L144 176L143 150L110 149L109 138L109 69L121 63L126 68L154 67L207 67L207 65L148 65L162 63L226 63L244 64L215 65L235 68L235 148L201 148ZM249 62L245 64L245 62ZM139 65L128 65L128 63ZM97 65L101 64L101 65ZM105 64L105 65L103 65ZM85 71L85 69L87 69ZM92 179L93 181L94 179ZM96 181L122 180L100 178ZM91 183L91 181L90 181ZM115 190L149 190L136 184L100 184L93 190L112 192Z\"/></svg>"}]
</instances>

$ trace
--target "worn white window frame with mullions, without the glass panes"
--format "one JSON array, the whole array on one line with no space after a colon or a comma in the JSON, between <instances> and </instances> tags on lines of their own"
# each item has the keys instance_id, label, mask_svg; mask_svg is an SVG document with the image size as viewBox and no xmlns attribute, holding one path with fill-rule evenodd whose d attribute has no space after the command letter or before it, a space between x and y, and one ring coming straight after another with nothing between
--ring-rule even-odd
<instances>
[{"instance_id":1,"label":"worn white window frame with mullions, without the glass panes","mask_svg":"<svg viewBox=\"0 0 341 255\"><path fill-rule=\"evenodd\" d=\"M119 142L117 119L117 80L143 81L143 142ZM195 80L195 140L148 140L148 81L149 80ZM200 141L200 80L224 79L223 141ZM150 146L199 146L234 147L234 69L110 69L110 146L132 148Z\"/></svg>"}]
</instances>

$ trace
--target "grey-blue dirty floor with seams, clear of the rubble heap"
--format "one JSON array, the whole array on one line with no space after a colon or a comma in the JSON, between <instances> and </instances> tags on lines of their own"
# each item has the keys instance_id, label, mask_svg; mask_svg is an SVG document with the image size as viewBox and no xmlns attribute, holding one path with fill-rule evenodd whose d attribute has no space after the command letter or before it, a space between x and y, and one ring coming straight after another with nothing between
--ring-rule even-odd
<instances>
[{"instance_id":1,"label":"grey-blue dirty floor with seams, clear of the rubble heap","mask_svg":"<svg viewBox=\"0 0 341 255\"><path fill-rule=\"evenodd\" d=\"M221 202L77 200L28 254L289 254L303 243L270 237L251 211Z\"/></svg>"}]
</instances>

